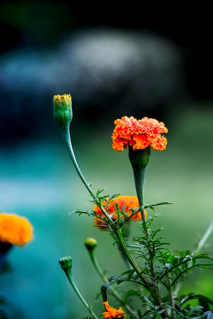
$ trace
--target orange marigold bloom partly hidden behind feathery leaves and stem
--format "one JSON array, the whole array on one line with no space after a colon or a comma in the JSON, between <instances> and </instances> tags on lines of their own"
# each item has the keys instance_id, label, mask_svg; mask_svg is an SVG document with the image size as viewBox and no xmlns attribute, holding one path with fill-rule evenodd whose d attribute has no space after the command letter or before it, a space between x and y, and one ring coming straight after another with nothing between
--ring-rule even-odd
<instances>
[{"instance_id":1,"label":"orange marigold bloom partly hidden behind feathery leaves and stem","mask_svg":"<svg viewBox=\"0 0 213 319\"><path fill-rule=\"evenodd\" d=\"M106 201L102 202L103 206L107 205L107 200L108 200L108 198L106 199ZM115 214L115 212L116 212L115 203L117 203L119 205L120 210L122 210L122 207L124 205L126 205L124 212L128 216L131 215L130 208L134 209L134 208L139 207L139 202L138 202L138 199L136 196L118 196L118 197L114 198L112 201L110 201L110 203L106 206L106 210L107 210L108 214L112 217L112 220L117 219L117 214ZM102 213L102 211L98 205L94 205L93 210L95 210L97 212L97 215L101 215L101 217L104 217L104 214ZM145 210L145 214L147 215L146 210ZM132 216L131 219L134 221L141 220L140 212L137 212L137 214ZM98 225L100 228L104 228L107 226L107 224L105 224L105 222L103 220L96 218L96 217L94 219L94 225Z\"/></svg>"}]
</instances>

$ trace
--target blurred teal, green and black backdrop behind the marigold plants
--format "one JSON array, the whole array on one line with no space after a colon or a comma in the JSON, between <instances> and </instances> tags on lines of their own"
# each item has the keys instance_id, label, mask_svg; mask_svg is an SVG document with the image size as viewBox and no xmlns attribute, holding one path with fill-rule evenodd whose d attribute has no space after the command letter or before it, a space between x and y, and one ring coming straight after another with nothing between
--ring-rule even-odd
<instances>
[{"instance_id":1,"label":"blurred teal, green and black backdrop behind the marigold plants","mask_svg":"<svg viewBox=\"0 0 213 319\"><path fill-rule=\"evenodd\" d=\"M88 236L98 240L97 256L108 276L125 271L111 237L92 227L92 217L68 215L92 205L53 119L54 94L73 97L73 146L94 191L107 187L106 194L135 195L128 152L111 147L113 121L155 117L169 129L168 147L151 153L145 199L172 202L158 206L155 226L164 228L173 251L193 250L212 220L208 19L198 28L198 13L188 24L180 10L182 23L175 28L172 12L155 15L151 5L144 12L142 18L136 8L81 8L63 1L0 6L0 209L29 218L35 234L32 243L10 251L12 272L1 277L0 294L13 319L88 315L58 263L73 257L75 281L92 303L102 282L84 247ZM131 234L138 231L132 224ZM212 237L204 247L211 254ZM195 272L181 292L211 298L212 276ZM94 311L102 310L100 298Z\"/></svg>"}]
</instances>

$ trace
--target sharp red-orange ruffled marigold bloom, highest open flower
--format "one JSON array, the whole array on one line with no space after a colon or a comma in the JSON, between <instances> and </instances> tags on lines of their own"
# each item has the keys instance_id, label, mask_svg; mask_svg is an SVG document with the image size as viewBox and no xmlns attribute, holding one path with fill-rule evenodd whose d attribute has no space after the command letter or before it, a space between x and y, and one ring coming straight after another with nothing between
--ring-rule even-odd
<instances>
[{"instance_id":1,"label":"sharp red-orange ruffled marigold bloom, highest open flower","mask_svg":"<svg viewBox=\"0 0 213 319\"><path fill-rule=\"evenodd\" d=\"M114 124L112 147L115 151L123 151L129 145L133 150L151 146L161 151L167 147L167 139L161 135L168 132L163 122L148 117L137 120L133 116L123 116L115 120Z\"/></svg>"}]
</instances>

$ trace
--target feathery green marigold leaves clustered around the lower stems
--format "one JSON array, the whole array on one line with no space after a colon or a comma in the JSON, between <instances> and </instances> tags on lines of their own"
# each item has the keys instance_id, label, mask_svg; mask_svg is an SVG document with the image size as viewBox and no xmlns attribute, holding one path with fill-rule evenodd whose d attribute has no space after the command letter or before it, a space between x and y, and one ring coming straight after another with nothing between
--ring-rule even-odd
<instances>
[{"instance_id":1,"label":"feathery green marigold leaves clustered around the lower stems","mask_svg":"<svg viewBox=\"0 0 213 319\"><path fill-rule=\"evenodd\" d=\"M98 197L103 191L98 190L96 193L97 197L93 202L98 203L98 205L107 211L109 203L116 199L119 194ZM125 253L125 258L129 258L128 261L131 261L134 256L134 260L139 262L133 262L131 269L123 272L120 276L111 276L108 282L105 282L101 287L102 298L104 301L107 300L107 294L112 285L129 282L134 284L135 287L126 289L121 294L123 306L131 305L134 297L138 301L140 300L140 308L136 310L135 314L129 314L129 319L158 319L162 317L198 319L201 318L202 309L206 310L203 314L206 314L207 319L213 319L213 315L210 317L209 314L209 309L213 306L211 299L193 293L179 297L174 295L177 284L183 282L186 276L195 268L206 269L212 267L213 258L208 254L191 252L189 250L172 253L170 250L171 244L167 241L167 237L161 236L163 228L151 228L153 221L159 216L155 206L162 204L170 203L161 202L134 208L131 209L131 215L129 216L125 212L126 205L120 207L118 203L115 203L114 215L116 219L113 221L116 226L115 230L112 230L107 216L98 215L98 218L108 225L106 230L110 232L119 251ZM128 245L127 238L123 236L121 230L133 215L145 208L150 208L153 215L145 223L139 223L143 234L132 238L135 245ZM97 217L96 211L77 210L74 212L77 212L79 215L87 214ZM160 303L156 303L155 293L160 295L158 297L158 300L161 300ZM195 299L199 305L193 307L190 303ZM186 306L184 306L185 304Z\"/></svg>"}]
</instances>

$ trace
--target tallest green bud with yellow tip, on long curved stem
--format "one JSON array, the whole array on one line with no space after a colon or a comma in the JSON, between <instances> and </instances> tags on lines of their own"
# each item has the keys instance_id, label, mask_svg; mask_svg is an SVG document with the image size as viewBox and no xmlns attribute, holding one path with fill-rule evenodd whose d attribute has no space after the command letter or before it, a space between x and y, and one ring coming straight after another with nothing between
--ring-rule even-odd
<instances>
[{"instance_id":1,"label":"tallest green bud with yellow tip, on long curved stem","mask_svg":"<svg viewBox=\"0 0 213 319\"><path fill-rule=\"evenodd\" d=\"M57 94L53 97L53 115L58 124L69 124L73 118L72 97L70 94Z\"/></svg>"}]
</instances>

